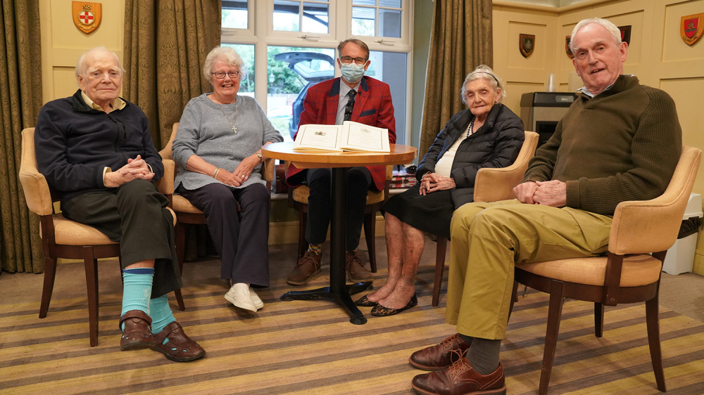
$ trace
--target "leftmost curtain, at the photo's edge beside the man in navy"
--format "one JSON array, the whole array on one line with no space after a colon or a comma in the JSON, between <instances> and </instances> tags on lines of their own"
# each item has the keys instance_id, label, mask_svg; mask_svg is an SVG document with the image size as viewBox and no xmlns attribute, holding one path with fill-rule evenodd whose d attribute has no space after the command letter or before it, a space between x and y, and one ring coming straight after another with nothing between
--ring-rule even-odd
<instances>
[{"instance_id":1,"label":"leftmost curtain, at the photo's edge beside the man in navy","mask_svg":"<svg viewBox=\"0 0 704 395\"><path fill-rule=\"evenodd\" d=\"M1 0L0 15L0 257L11 273L44 271L39 217L31 214L18 179L21 131L42 108L39 4Z\"/></svg>"}]
</instances>

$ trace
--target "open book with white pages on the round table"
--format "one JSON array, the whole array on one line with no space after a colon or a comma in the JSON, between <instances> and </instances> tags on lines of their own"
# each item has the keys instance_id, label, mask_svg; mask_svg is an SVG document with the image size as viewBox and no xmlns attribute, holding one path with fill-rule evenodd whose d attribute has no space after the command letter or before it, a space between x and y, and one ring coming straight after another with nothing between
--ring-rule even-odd
<instances>
[{"instance_id":1,"label":"open book with white pages on the round table","mask_svg":"<svg viewBox=\"0 0 704 395\"><path fill-rule=\"evenodd\" d=\"M345 121L341 125L301 125L294 150L390 152L389 129Z\"/></svg>"}]
</instances>

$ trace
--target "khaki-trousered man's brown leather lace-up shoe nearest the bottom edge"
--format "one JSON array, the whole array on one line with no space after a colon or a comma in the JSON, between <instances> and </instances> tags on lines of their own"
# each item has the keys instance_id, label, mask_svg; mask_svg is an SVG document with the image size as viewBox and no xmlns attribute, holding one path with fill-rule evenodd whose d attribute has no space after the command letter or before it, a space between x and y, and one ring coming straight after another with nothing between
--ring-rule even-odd
<instances>
[{"instance_id":1,"label":"khaki-trousered man's brown leather lace-up shoe nearest the bottom edge","mask_svg":"<svg viewBox=\"0 0 704 395\"><path fill-rule=\"evenodd\" d=\"M457 352L457 351L455 351ZM467 358L459 358L452 365L438 372L413 377L413 389L420 394L505 394L503 366L498 364L494 373L480 375Z\"/></svg>"}]
</instances>

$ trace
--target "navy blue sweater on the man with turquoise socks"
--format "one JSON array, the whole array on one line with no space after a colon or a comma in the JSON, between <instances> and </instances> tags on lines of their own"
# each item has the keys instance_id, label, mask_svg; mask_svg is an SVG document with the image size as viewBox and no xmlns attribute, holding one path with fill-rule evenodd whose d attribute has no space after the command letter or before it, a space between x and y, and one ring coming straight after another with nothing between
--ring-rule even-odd
<instances>
[{"instance_id":1,"label":"navy blue sweater on the man with turquoise socks","mask_svg":"<svg viewBox=\"0 0 704 395\"><path fill-rule=\"evenodd\" d=\"M46 103L39 112L34 129L37 167L62 201L110 189L103 184L103 169L118 170L137 155L151 166L154 181L163 176L144 112L125 102L125 108L108 114L90 108L78 90Z\"/></svg>"}]
</instances>

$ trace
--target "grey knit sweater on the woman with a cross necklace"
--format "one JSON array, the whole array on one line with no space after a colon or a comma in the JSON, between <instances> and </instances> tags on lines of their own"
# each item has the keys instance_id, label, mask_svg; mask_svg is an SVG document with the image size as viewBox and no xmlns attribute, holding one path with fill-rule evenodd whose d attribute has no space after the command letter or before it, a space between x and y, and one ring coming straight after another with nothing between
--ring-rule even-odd
<instances>
[{"instance_id":1,"label":"grey knit sweater on the woman with a cross necklace","mask_svg":"<svg viewBox=\"0 0 704 395\"><path fill-rule=\"evenodd\" d=\"M233 171L264 143L284 140L253 98L237 95L235 103L222 105L211 101L208 94L192 98L181 115L172 146L177 165L176 187L183 184L184 188L194 190L220 182L206 174L188 171L186 162L191 155L198 155L214 166ZM232 131L230 122L237 128L237 133ZM260 167L261 164L240 188L264 182L259 174Z\"/></svg>"}]
</instances>

